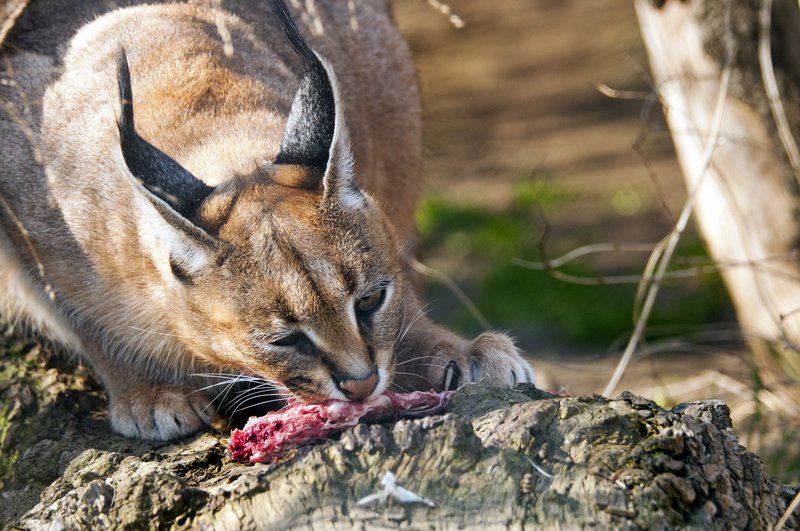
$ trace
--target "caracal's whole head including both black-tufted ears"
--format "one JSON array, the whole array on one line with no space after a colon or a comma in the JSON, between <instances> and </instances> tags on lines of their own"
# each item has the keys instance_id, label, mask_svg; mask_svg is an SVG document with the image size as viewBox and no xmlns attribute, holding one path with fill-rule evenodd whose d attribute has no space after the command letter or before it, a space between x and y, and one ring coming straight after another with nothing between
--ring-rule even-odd
<instances>
[{"instance_id":1,"label":"caracal's whole head including both black-tufted ears","mask_svg":"<svg viewBox=\"0 0 800 531\"><path fill-rule=\"evenodd\" d=\"M187 349L306 399L366 399L391 382L410 288L392 224L354 175L333 69L276 5L304 73L274 161L216 188L196 179L136 133L124 53L121 149Z\"/></svg>"}]
</instances>

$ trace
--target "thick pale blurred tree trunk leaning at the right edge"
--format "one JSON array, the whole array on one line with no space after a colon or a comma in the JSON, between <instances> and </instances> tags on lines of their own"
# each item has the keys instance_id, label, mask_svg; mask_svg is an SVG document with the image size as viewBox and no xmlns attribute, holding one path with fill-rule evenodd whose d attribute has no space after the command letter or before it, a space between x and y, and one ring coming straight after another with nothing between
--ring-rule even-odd
<instances>
[{"instance_id":1,"label":"thick pale blurred tree trunk leaning at the right edge","mask_svg":"<svg viewBox=\"0 0 800 531\"><path fill-rule=\"evenodd\" d=\"M800 415L798 1L634 3L697 225L758 377Z\"/></svg>"}]
</instances>

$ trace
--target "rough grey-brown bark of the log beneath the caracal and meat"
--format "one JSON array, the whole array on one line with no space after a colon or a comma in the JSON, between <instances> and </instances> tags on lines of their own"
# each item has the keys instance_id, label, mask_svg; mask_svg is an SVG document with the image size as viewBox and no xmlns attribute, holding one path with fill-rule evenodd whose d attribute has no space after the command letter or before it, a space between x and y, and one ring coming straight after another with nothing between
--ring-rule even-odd
<instances>
[{"instance_id":1,"label":"rough grey-brown bark of the log beneath the caracal and meat","mask_svg":"<svg viewBox=\"0 0 800 531\"><path fill-rule=\"evenodd\" d=\"M445 415L358 425L247 465L225 457L227 430L116 436L84 368L35 344L6 350L0 522L15 529L765 529L795 494L738 444L721 402L664 410L631 394L472 386ZM435 506L359 505L386 472Z\"/></svg>"}]
</instances>

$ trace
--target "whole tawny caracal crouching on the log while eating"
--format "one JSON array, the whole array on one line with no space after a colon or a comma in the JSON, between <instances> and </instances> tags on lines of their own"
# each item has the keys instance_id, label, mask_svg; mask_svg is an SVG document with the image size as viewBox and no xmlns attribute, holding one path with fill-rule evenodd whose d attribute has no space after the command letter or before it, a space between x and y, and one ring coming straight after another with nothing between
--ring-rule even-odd
<instances>
[{"instance_id":1,"label":"whole tawny caracal crouching on the log while eating","mask_svg":"<svg viewBox=\"0 0 800 531\"><path fill-rule=\"evenodd\" d=\"M88 360L121 434L208 425L209 374L309 401L533 378L509 337L458 337L415 294L420 102L387 6L292 5L10 34L4 314Z\"/></svg>"}]
</instances>

